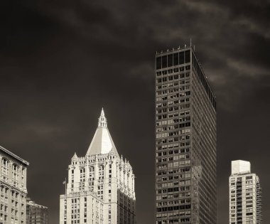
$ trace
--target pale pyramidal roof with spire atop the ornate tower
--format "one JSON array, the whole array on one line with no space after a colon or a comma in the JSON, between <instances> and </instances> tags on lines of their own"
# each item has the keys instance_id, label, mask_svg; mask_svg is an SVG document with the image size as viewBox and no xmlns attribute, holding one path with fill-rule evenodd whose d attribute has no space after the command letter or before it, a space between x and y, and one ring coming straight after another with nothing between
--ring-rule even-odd
<instances>
[{"instance_id":1,"label":"pale pyramidal roof with spire atop the ornate tower","mask_svg":"<svg viewBox=\"0 0 270 224\"><path fill-rule=\"evenodd\" d=\"M109 129L107 127L107 119L102 108L97 130L89 146L89 149L87 150L86 155L91 156L96 154L107 154L111 151L117 154L117 156L119 156L117 148L114 145L114 141L112 141L111 134L109 134Z\"/></svg>"}]
</instances>

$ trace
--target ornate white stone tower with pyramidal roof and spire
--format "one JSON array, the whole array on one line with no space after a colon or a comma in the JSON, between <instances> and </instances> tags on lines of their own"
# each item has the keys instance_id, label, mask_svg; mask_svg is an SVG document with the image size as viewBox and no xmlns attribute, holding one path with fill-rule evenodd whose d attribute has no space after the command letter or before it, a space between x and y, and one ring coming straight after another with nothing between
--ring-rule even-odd
<instances>
[{"instance_id":1,"label":"ornate white stone tower with pyramidal roof and spire","mask_svg":"<svg viewBox=\"0 0 270 224\"><path fill-rule=\"evenodd\" d=\"M134 224L134 174L114 145L104 110L85 156L72 156L60 224Z\"/></svg>"}]
</instances>

